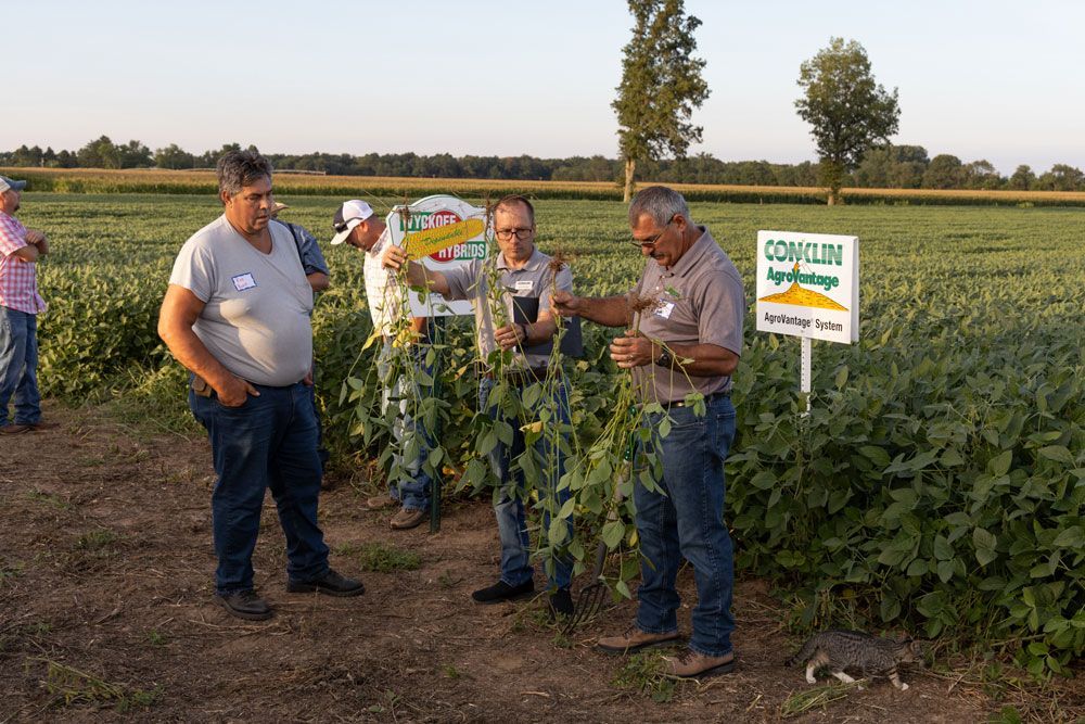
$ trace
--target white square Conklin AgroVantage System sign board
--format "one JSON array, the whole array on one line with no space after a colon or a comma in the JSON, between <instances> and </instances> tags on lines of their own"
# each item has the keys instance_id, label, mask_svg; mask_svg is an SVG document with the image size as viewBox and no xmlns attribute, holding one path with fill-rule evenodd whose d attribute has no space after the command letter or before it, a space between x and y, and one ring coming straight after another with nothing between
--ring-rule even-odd
<instances>
[{"instance_id":1,"label":"white square Conklin AgroVantage System sign board","mask_svg":"<svg viewBox=\"0 0 1085 724\"><path fill-rule=\"evenodd\" d=\"M859 240L757 232L757 331L850 344L859 339Z\"/></svg>"}]
</instances>

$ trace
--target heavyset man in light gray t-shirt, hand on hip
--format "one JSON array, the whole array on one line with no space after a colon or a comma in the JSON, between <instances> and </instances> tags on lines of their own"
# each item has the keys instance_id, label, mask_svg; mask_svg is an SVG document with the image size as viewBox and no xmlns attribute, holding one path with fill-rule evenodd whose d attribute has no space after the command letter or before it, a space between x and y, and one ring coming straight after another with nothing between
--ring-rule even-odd
<instances>
[{"instance_id":1,"label":"heavyset man in light gray t-shirt, hand on hip","mask_svg":"<svg viewBox=\"0 0 1085 724\"><path fill-rule=\"evenodd\" d=\"M317 525L312 290L290 232L270 224L271 165L234 151L217 170L225 213L177 255L158 334L192 373L189 406L210 439L216 599L232 615L260 621L271 608L253 590L252 555L268 488L286 536L286 590L365 588L328 567Z\"/></svg>"}]
</instances>

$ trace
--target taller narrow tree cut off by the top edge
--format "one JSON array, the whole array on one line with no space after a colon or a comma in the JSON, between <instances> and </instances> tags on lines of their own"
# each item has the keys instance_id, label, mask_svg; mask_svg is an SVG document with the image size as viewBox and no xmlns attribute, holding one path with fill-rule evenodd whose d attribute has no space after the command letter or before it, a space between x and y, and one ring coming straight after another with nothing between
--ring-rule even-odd
<instances>
[{"instance_id":1,"label":"taller narrow tree cut off by the top edge","mask_svg":"<svg viewBox=\"0 0 1085 724\"><path fill-rule=\"evenodd\" d=\"M636 22L623 49L622 85L611 107L617 114L618 149L625 161L625 200L633 194L637 162L682 157L700 142L693 109L709 97L704 61L693 58L701 21L686 15L682 0L629 0Z\"/></svg>"}]
</instances>

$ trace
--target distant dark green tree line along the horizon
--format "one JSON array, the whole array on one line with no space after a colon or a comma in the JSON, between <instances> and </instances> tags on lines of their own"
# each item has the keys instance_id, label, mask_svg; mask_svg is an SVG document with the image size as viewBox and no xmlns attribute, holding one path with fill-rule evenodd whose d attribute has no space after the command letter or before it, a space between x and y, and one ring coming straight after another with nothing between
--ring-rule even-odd
<instances>
[{"instance_id":1,"label":"distant dark green tree line along the horizon","mask_svg":"<svg viewBox=\"0 0 1085 724\"><path fill-rule=\"evenodd\" d=\"M241 147L189 153L176 143L151 151L140 141L114 143L107 136L77 151L42 150L21 145L0 152L0 166L47 168L213 168L227 151ZM265 154L278 169L323 172L336 176L407 176L553 181L624 182L622 158L570 156L536 158L520 156L454 156L448 153L347 153ZM667 183L730 183L738 186L818 187L819 166L804 161L775 164L767 161L720 161L699 153L676 160L646 160L638 176ZM856 168L845 175L844 186L884 189L1011 189L1017 191L1085 191L1085 174L1069 164L1055 164L1037 174L1027 165L1003 176L988 161L965 163L950 154L933 158L921 145L875 145Z\"/></svg>"}]
</instances>

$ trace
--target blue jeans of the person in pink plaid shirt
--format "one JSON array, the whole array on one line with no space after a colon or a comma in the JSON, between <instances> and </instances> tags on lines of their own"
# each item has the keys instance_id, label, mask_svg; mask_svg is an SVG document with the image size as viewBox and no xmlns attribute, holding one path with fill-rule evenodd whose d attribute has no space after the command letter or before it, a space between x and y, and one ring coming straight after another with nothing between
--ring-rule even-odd
<instances>
[{"instance_id":1,"label":"blue jeans of the person in pink plaid shirt","mask_svg":"<svg viewBox=\"0 0 1085 724\"><path fill-rule=\"evenodd\" d=\"M15 395L15 424L41 421L38 393L38 316L0 306L0 425Z\"/></svg>"}]
</instances>

